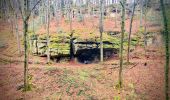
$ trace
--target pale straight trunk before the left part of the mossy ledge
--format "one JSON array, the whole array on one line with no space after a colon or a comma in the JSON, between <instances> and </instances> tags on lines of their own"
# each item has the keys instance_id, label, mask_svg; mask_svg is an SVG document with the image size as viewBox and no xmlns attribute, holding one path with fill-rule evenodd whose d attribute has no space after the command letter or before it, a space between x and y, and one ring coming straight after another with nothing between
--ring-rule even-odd
<instances>
[{"instance_id":1,"label":"pale straight trunk before the left part of the mossy ledge","mask_svg":"<svg viewBox=\"0 0 170 100\"><path fill-rule=\"evenodd\" d=\"M47 1L47 63L50 62L50 38L49 38L49 27L50 27L50 11L49 11L49 5L50 5L50 1Z\"/></svg>"}]
</instances>

